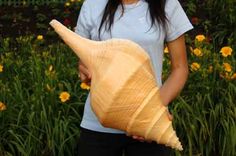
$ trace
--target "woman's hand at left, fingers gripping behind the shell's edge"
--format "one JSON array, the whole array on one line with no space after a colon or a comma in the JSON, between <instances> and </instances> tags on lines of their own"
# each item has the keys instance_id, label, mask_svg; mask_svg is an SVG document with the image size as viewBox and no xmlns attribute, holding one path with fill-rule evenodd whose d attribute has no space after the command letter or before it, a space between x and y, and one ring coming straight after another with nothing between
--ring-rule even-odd
<instances>
[{"instance_id":1,"label":"woman's hand at left, fingers gripping behind the shell's edge","mask_svg":"<svg viewBox=\"0 0 236 156\"><path fill-rule=\"evenodd\" d=\"M92 75L89 72L88 68L85 66L85 64L81 61L78 61L78 70L81 82L90 85Z\"/></svg>"}]
</instances>

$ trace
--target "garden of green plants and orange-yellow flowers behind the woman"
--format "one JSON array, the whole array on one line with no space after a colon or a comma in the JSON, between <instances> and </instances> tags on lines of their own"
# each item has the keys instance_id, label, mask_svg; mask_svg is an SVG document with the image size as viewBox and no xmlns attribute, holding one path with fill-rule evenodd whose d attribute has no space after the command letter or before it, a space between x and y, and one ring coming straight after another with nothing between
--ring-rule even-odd
<instances>
[{"instance_id":1,"label":"garden of green plants and orange-yellow flowers behind the woman","mask_svg":"<svg viewBox=\"0 0 236 156\"><path fill-rule=\"evenodd\" d=\"M73 29L83 1L0 0L0 156L76 155L88 87L50 28ZM170 105L180 156L236 155L236 1L180 0L190 75ZM163 79L169 69L165 49Z\"/></svg>"}]
</instances>

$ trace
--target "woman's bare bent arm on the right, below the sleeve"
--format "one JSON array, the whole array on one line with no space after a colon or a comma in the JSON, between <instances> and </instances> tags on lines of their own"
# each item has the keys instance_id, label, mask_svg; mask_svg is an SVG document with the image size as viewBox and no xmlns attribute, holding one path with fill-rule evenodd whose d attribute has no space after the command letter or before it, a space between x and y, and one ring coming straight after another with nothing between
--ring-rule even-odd
<instances>
[{"instance_id":1,"label":"woman's bare bent arm on the right, below the sleeve","mask_svg":"<svg viewBox=\"0 0 236 156\"><path fill-rule=\"evenodd\" d=\"M171 73L160 88L160 96L164 105L168 105L182 90L188 77L188 62L184 35L167 43Z\"/></svg>"}]
</instances>

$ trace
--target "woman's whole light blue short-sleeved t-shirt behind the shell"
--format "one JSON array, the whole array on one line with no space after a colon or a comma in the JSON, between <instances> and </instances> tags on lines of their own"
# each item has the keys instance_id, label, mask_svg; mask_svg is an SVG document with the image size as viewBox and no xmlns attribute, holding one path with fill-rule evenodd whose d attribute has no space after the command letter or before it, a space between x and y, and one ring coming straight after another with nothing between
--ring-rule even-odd
<instances>
[{"instance_id":1,"label":"woman's whole light blue short-sleeved t-shirt behind the shell","mask_svg":"<svg viewBox=\"0 0 236 156\"><path fill-rule=\"evenodd\" d=\"M98 29L106 4L107 0L85 0L80 10L75 32L83 37L99 40ZM100 38L101 40L123 38L138 43L150 55L156 81L160 86L162 84L164 42L175 40L193 26L178 0L166 0L165 12L168 18L166 31L155 25L150 28L148 3L144 0L139 0L136 4L124 5L124 9L124 14L121 16L122 8L118 7L111 33L102 29ZM99 132L124 133L120 130L105 128L99 123L90 106L90 94L85 103L81 127Z\"/></svg>"}]
</instances>

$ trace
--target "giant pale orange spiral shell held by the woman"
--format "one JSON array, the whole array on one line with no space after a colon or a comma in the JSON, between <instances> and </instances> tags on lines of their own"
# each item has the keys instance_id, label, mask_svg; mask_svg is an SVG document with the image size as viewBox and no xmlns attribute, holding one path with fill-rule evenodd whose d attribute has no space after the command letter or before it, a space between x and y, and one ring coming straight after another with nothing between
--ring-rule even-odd
<instances>
[{"instance_id":1,"label":"giant pale orange spiral shell held by the woman","mask_svg":"<svg viewBox=\"0 0 236 156\"><path fill-rule=\"evenodd\" d=\"M92 41L50 25L92 74L91 105L101 124L183 150L161 103L148 54L124 39Z\"/></svg>"}]
</instances>

